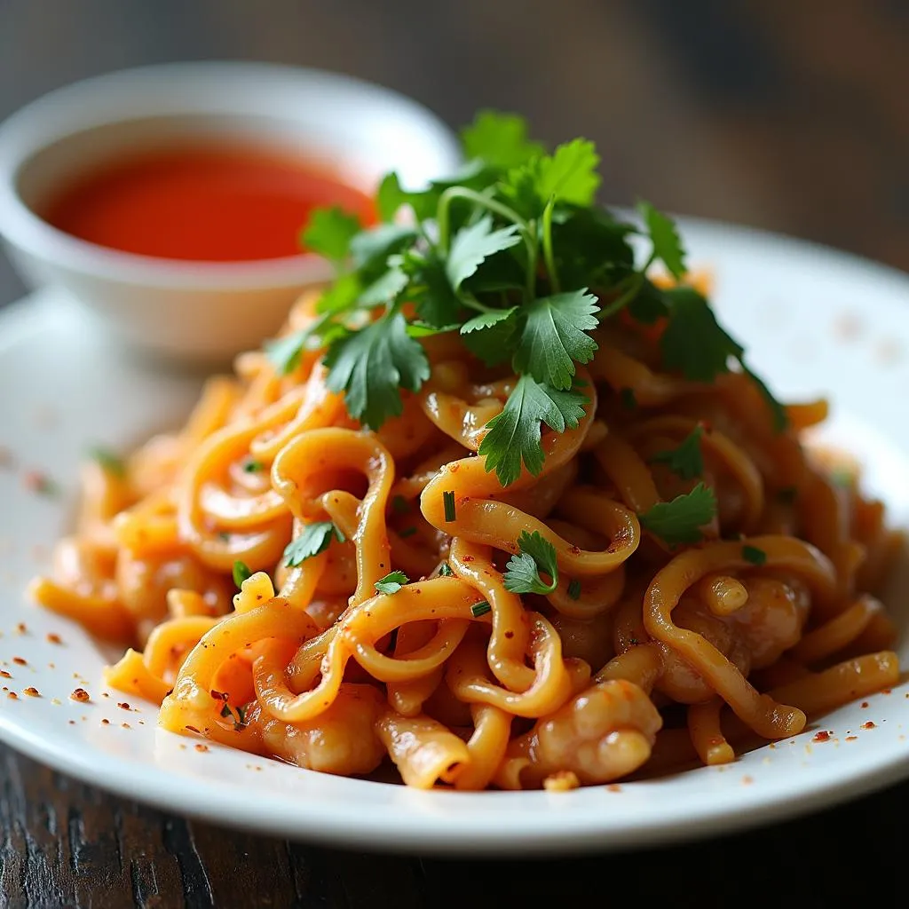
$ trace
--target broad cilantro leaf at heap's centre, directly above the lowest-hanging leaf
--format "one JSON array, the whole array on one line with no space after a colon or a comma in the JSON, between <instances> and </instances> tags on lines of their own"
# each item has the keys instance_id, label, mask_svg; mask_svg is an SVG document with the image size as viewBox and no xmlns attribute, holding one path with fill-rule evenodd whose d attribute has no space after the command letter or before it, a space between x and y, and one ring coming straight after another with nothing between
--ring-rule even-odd
<instances>
[{"instance_id":1,"label":"broad cilantro leaf at heap's centre, directly above the lowest-hanging leaf","mask_svg":"<svg viewBox=\"0 0 909 909\"><path fill-rule=\"evenodd\" d=\"M526 320L514 368L554 388L571 388L574 361L589 363L596 342L585 334L597 325L596 297L586 290L539 297L524 307Z\"/></svg>"}]
</instances>

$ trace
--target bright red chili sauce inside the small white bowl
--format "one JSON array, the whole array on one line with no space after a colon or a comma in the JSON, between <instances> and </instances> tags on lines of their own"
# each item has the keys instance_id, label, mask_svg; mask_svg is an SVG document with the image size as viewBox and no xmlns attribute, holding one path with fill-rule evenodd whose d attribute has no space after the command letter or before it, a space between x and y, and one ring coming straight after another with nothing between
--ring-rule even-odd
<instances>
[{"instance_id":1,"label":"bright red chili sauce inside the small white bowl","mask_svg":"<svg viewBox=\"0 0 909 909\"><path fill-rule=\"evenodd\" d=\"M300 228L324 205L375 223L365 193L305 161L192 147L84 175L39 214L66 234L126 253L248 262L299 255Z\"/></svg>"}]
</instances>

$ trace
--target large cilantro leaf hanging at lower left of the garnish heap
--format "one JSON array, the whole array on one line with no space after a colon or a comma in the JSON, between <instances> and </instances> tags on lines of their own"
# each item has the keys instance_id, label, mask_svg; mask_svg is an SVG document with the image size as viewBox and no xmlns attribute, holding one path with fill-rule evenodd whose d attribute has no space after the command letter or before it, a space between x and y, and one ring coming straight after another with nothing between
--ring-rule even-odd
<instances>
[{"instance_id":1,"label":"large cilantro leaf hanging at lower left of the garnish heap","mask_svg":"<svg viewBox=\"0 0 909 909\"><path fill-rule=\"evenodd\" d=\"M400 388L419 391L429 378L425 351L407 334L405 318L397 312L335 338L325 365L328 388L344 392L347 412L370 429L401 414Z\"/></svg>"}]
</instances>

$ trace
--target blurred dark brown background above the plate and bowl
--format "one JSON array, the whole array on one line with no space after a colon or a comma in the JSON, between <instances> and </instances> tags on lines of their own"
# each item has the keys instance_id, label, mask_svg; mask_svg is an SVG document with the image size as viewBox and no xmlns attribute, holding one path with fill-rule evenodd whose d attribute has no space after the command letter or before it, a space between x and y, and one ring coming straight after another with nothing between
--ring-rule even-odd
<instances>
[{"instance_id":1,"label":"blurred dark brown background above the plate and bowl","mask_svg":"<svg viewBox=\"0 0 909 909\"><path fill-rule=\"evenodd\" d=\"M593 139L606 202L799 235L909 270L906 0L0 0L0 119L189 59L339 70L450 125L491 106ZM0 261L0 304L22 293Z\"/></svg>"}]
</instances>

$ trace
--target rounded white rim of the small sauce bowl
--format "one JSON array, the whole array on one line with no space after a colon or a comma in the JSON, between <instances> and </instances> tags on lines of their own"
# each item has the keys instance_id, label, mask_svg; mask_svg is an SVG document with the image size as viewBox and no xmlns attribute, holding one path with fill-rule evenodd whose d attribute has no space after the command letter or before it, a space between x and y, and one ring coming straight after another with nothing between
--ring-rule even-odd
<instances>
[{"instance_id":1,"label":"rounded white rim of the small sauce bowl","mask_svg":"<svg viewBox=\"0 0 909 909\"><path fill-rule=\"evenodd\" d=\"M435 112L395 89L345 73L249 60L185 61L112 70L55 88L0 122L0 238L6 244L77 275L142 287L229 292L290 288L331 279L332 266L312 253L243 262L194 262L127 253L67 234L25 203L17 186L21 168L51 145L93 127L193 113L232 116L238 122L247 117L255 119L242 106L175 102L165 93L159 95L158 104L137 114L129 113L126 103L129 95L141 93L162 77L181 85L185 85L185 80L195 80L199 89L233 79L244 80L247 91L255 90L256 83L262 90L267 90L269 85L300 90L322 85L347 97L389 105L405 115L436 146L440 169L449 165L454 168L461 161L453 130ZM89 102L95 108L79 125L72 118L64 118L60 125L55 125L54 113L61 105ZM298 122L292 113L286 120Z\"/></svg>"}]
</instances>

